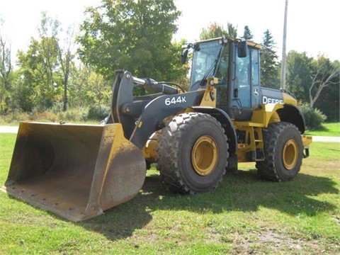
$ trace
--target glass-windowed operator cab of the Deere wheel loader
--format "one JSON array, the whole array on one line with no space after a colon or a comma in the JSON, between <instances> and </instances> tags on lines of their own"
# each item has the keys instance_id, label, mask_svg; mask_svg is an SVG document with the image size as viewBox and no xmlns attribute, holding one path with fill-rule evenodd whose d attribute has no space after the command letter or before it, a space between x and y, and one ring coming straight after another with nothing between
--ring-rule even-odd
<instances>
[{"instance_id":1,"label":"glass-windowed operator cab of the Deere wheel loader","mask_svg":"<svg viewBox=\"0 0 340 255\"><path fill-rule=\"evenodd\" d=\"M254 42L215 38L189 44L182 62L193 49L191 91L205 89L208 77L216 77L217 108L235 120L250 120L261 103L259 49Z\"/></svg>"}]
</instances>

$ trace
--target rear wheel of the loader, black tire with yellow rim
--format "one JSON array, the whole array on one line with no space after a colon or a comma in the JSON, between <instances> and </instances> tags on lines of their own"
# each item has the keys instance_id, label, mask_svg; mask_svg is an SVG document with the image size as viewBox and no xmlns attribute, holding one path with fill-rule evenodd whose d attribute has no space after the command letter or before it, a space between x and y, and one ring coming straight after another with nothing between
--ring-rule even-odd
<instances>
[{"instance_id":1,"label":"rear wheel of the loader, black tire with yellow rim","mask_svg":"<svg viewBox=\"0 0 340 255\"><path fill-rule=\"evenodd\" d=\"M303 157L299 130L291 123L271 123L263 130L263 162L256 162L258 173L271 181L291 181L300 171Z\"/></svg>"}]
</instances>

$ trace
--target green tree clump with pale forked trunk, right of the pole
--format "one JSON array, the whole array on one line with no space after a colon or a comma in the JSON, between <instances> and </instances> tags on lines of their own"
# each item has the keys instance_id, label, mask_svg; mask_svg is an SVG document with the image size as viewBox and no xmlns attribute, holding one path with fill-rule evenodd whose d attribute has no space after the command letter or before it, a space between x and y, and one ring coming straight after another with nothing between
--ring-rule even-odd
<instances>
[{"instance_id":1,"label":"green tree clump with pale forked trunk, right of the pole","mask_svg":"<svg viewBox=\"0 0 340 255\"><path fill-rule=\"evenodd\" d=\"M339 121L339 75L338 61L331 62L323 55L314 59L306 52L288 52L288 90L311 111L326 115L328 121Z\"/></svg>"}]
</instances>

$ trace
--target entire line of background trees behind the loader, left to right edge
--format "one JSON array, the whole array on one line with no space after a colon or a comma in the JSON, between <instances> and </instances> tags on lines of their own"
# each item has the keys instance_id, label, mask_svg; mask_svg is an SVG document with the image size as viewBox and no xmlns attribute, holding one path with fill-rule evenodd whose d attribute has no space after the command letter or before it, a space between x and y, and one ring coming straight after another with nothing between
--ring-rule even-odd
<instances>
[{"instance_id":1,"label":"entire line of background trees behind the loader, left to right edge","mask_svg":"<svg viewBox=\"0 0 340 255\"><path fill-rule=\"evenodd\" d=\"M102 0L100 6L86 8L79 29L63 30L59 21L42 13L38 38L30 39L28 50L17 52L16 68L0 30L0 114L108 106L116 69L188 84L189 67L180 61L186 40L172 40L180 15L173 0ZM232 23L226 25L210 24L200 39L227 35L253 40L249 26L239 35ZM279 89L280 62L269 30L261 45L261 86ZM339 121L339 61L290 51L286 66L285 89L327 120Z\"/></svg>"}]
</instances>

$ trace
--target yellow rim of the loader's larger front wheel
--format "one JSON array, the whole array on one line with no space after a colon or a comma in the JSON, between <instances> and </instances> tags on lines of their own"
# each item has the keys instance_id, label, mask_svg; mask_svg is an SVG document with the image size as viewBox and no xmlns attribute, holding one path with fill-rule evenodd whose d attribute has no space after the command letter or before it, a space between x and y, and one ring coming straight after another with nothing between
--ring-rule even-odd
<instances>
[{"instance_id":1,"label":"yellow rim of the loader's larger front wheel","mask_svg":"<svg viewBox=\"0 0 340 255\"><path fill-rule=\"evenodd\" d=\"M191 151L193 169L201 176L207 176L214 171L218 159L218 148L215 140L208 135L198 138Z\"/></svg>"}]
</instances>

